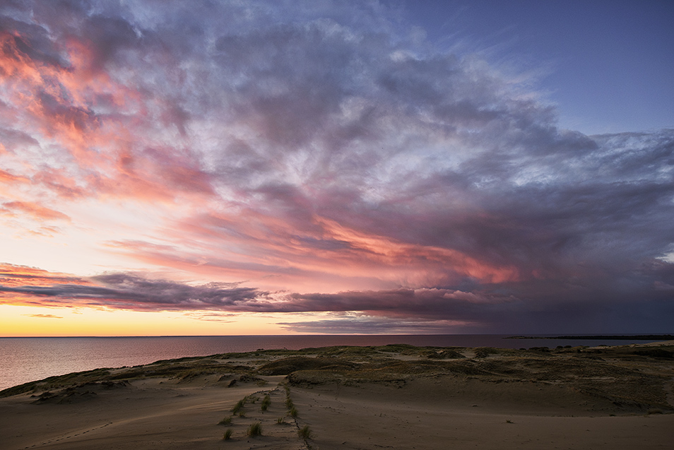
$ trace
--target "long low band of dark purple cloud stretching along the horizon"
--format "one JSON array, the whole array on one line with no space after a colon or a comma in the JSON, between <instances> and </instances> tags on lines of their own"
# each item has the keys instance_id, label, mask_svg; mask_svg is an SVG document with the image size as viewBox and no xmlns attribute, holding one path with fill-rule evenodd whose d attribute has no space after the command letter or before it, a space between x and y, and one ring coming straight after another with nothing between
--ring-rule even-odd
<instances>
[{"instance_id":1,"label":"long low band of dark purple cloud stretching along the horizon","mask_svg":"<svg viewBox=\"0 0 674 450\"><path fill-rule=\"evenodd\" d=\"M279 322L286 328L311 333L321 329L331 333L666 331L674 314L670 301L674 295L673 265L652 261L621 276L620 280L594 276L473 285L472 290L291 294L229 283L188 285L134 273L76 278L5 265L0 273L0 298L46 307L331 314L328 319ZM23 284L26 282L32 284Z\"/></svg>"}]
</instances>

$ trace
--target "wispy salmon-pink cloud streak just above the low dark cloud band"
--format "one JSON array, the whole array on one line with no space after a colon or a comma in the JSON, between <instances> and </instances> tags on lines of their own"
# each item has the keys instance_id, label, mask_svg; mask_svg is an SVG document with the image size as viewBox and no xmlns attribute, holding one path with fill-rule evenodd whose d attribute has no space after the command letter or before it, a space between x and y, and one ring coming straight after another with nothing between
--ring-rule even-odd
<instances>
[{"instance_id":1,"label":"wispy salmon-pink cloud streak just above the low dark cloud band","mask_svg":"<svg viewBox=\"0 0 674 450\"><path fill-rule=\"evenodd\" d=\"M260 283L278 283L277 288L281 283L342 290L432 286L466 277L480 283L519 279L512 265L497 266L461 251L401 242L315 215L309 224L298 230L280 218L244 209L232 216L199 215L167 229L165 237L175 245L117 242L114 247L141 261L191 273L230 279L271 276Z\"/></svg>"}]
</instances>

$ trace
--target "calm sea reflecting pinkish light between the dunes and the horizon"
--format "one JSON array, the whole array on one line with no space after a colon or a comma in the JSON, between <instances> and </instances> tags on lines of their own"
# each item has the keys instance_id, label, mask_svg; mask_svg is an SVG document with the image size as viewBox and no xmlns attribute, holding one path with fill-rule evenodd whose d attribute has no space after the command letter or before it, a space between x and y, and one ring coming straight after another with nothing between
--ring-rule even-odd
<instances>
[{"instance_id":1,"label":"calm sea reflecting pinkish light between the dunes and the horizon","mask_svg":"<svg viewBox=\"0 0 674 450\"><path fill-rule=\"evenodd\" d=\"M437 336L182 336L141 338L0 338L0 390L17 384L99 367L148 364L183 356L299 350L327 345L437 345L529 348L557 345L625 345L648 341L504 339L506 335Z\"/></svg>"}]
</instances>

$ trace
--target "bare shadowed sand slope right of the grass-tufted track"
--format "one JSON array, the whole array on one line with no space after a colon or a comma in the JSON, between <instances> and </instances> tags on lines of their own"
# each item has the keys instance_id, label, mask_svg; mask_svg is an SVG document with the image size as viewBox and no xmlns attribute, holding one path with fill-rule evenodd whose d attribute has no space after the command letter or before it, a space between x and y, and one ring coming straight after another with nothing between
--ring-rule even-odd
<instances>
[{"instance_id":1,"label":"bare shadowed sand slope right of the grass-tufted track","mask_svg":"<svg viewBox=\"0 0 674 450\"><path fill-rule=\"evenodd\" d=\"M533 415L516 403L492 408L485 405L488 396L418 396L418 389L432 389L423 385L394 392L321 386L298 389L293 396L306 411L300 420L312 427L320 449L632 450L670 449L673 442L672 415L579 417L573 414L586 412L572 405L536 408Z\"/></svg>"}]
</instances>

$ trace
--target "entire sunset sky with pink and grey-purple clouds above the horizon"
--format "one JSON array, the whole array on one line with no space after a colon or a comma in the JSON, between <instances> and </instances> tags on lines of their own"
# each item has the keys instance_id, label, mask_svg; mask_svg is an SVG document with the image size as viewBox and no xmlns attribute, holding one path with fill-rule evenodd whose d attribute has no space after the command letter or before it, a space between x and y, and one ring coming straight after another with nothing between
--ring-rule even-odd
<instances>
[{"instance_id":1,"label":"entire sunset sky with pink and grey-purple clouds above the horizon","mask_svg":"<svg viewBox=\"0 0 674 450\"><path fill-rule=\"evenodd\" d=\"M670 333L669 1L4 1L0 336Z\"/></svg>"}]
</instances>

